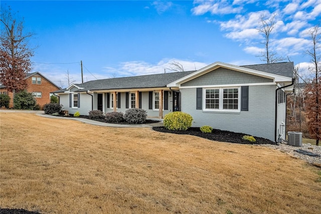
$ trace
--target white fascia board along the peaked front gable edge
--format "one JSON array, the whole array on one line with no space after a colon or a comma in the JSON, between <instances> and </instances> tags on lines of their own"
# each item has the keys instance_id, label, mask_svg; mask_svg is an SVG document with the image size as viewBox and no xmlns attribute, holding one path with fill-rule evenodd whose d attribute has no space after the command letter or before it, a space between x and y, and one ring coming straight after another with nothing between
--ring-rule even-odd
<instances>
[{"instance_id":1,"label":"white fascia board along the peaked front gable edge","mask_svg":"<svg viewBox=\"0 0 321 214\"><path fill-rule=\"evenodd\" d=\"M213 71L215 69L218 68L227 68L233 71L238 71L238 72L243 72L243 73L247 73L247 74L251 74L251 75L256 75L256 76L260 76L263 78L268 78L268 79L272 79L273 82L287 82L287 81L292 81L292 78L289 77L284 77L284 76L280 76L280 75L276 75L276 74L270 74L270 73L266 73L263 71L257 71L257 70L253 70L253 69L249 69L249 68L244 68L244 67L240 67L240 66L235 66L235 65L231 65L231 64L227 64L227 63L221 63L221 62L216 62L213 63L211 65L208 65L190 75L187 75L181 79L178 79L170 84L167 85L167 87L180 87L182 83L188 82L192 79L195 79L199 76L202 76L210 71Z\"/></svg>"}]
</instances>

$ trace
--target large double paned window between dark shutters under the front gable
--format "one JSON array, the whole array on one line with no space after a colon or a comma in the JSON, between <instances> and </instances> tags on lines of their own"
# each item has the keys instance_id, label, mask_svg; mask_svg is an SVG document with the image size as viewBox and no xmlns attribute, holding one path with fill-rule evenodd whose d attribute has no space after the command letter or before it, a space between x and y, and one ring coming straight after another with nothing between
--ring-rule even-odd
<instances>
[{"instance_id":1,"label":"large double paned window between dark shutters under the front gable","mask_svg":"<svg viewBox=\"0 0 321 214\"><path fill-rule=\"evenodd\" d=\"M205 109L214 111L239 111L239 88L205 89Z\"/></svg>"}]
</instances>

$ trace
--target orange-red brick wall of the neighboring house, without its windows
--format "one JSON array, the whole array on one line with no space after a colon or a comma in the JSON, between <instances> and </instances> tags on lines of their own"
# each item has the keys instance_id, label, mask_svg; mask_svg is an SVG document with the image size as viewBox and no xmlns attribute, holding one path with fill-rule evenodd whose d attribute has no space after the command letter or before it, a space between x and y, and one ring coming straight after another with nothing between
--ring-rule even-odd
<instances>
[{"instance_id":1,"label":"orange-red brick wall of the neighboring house, without its windows","mask_svg":"<svg viewBox=\"0 0 321 214\"><path fill-rule=\"evenodd\" d=\"M41 84L32 84L32 77L41 77ZM37 82L36 82L37 83ZM28 92L41 92L41 98L35 97L37 100L37 103L40 105L41 109L46 103L50 103L50 92L59 90L58 87L53 85L51 82L46 80L43 76L39 74L35 74L31 77L27 78L27 91ZM7 94L10 96L10 108L14 107L14 100L13 100L13 93L8 92L6 88L0 89L0 92L4 93L4 91L7 92Z\"/></svg>"}]
</instances>

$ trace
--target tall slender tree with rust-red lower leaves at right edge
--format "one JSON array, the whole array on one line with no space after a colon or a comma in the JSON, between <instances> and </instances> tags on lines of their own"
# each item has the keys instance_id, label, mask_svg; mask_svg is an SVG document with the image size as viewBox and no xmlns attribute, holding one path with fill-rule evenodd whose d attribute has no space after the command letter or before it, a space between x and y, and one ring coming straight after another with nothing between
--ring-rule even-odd
<instances>
[{"instance_id":1,"label":"tall slender tree with rust-red lower leaves at right edge","mask_svg":"<svg viewBox=\"0 0 321 214\"><path fill-rule=\"evenodd\" d=\"M313 67L309 67L309 70L315 76L311 84L308 84L305 88L307 92L305 111L308 118L309 133L315 139L315 144L318 145L321 139L321 56L317 51L320 48L321 29L319 26L314 26L307 32L307 35L312 41L312 48L305 53L311 57Z\"/></svg>"}]
</instances>

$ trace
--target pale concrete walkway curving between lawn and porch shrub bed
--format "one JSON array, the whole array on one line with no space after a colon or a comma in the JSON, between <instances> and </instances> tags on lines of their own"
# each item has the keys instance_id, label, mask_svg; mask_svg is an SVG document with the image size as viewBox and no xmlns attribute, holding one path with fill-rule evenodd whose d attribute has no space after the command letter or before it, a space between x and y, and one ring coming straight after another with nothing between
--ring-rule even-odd
<instances>
[{"instance_id":1,"label":"pale concrete walkway curving between lawn and porch shrub bed","mask_svg":"<svg viewBox=\"0 0 321 214\"><path fill-rule=\"evenodd\" d=\"M6 109L6 110L0 110L0 112L15 112L15 113L35 113L42 117L47 118L53 118L53 119L66 119L66 120L76 120L83 123L88 123L91 125L97 125L97 126L109 126L109 127L155 127L155 126L163 126L163 120L162 119L155 119L155 118L147 118L149 120L158 120L161 122L155 121L155 123L148 123L148 124L113 124L113 123L103 123L95 120L89 120L85 118L76 118L76 117L59 117L59 116L53 116L49 114L45 114L44 111L33 111L33 110L14 110L14 109Z\"/></svg>"}]
</instances>

